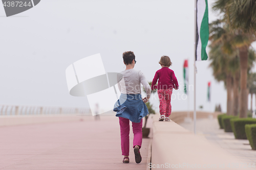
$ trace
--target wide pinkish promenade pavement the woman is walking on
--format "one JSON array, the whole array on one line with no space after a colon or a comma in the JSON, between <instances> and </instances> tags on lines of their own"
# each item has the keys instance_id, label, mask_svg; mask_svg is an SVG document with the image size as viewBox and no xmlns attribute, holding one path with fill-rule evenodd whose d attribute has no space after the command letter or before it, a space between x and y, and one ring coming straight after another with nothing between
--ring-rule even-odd
<instances>
[{"instance_id":1,"label":"wide pinkish promenade pavement the woman is walking on","mask_svg":"<svg viewBox=\"0 0 256 170\"><path fill-rule=\"evenodd\" d=\"M131 124L132 125L132 124ZM135 162L130 128L130 163L122 163L118 117L83 116L83 121L0 127L0 169L146 169L149 138L142 162Z\"/></svg>"}]
</instances>

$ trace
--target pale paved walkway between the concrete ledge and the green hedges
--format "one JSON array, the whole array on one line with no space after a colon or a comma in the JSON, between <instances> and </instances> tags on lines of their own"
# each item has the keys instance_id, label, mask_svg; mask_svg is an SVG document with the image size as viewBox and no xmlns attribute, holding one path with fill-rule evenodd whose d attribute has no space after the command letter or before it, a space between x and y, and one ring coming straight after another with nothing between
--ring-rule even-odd
<instances>
[{"instance_id":1,"label":"pale paved walkway between the concrete ledge and the green hedges","mask_svg":"<svg viewBox=\"0 0 256 170\"><path fill-rule=\"evenodd\" d=\"M180 123L185 129L194 132L194 123ZM251 150L247 139L235 139L232 132L224 132L219 128L217 118L197 119L197 135L203 135L208 141L221 147L226 152L239 158L247 164L255 163L256 166L256 151ZM238 162L238 163L243 163Z\"/></svg>"}]
</instances>

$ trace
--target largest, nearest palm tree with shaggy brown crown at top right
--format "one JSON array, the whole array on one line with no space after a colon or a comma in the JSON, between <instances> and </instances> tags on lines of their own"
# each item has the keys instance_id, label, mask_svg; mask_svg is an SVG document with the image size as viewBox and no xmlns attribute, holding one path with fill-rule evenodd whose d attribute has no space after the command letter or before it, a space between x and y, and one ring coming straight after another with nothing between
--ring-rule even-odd
<instances>
[{"instance_id":1,"label":"largest, nearest palm tree with shaggy brown crown at top right","mask_svg":"<svg viewBox=\"0 0 256 170\"><path fill-rule=\"evenodd\" d=\"M213 9L224 14L230 32L236 36L233 46L239 50L240 57L240 117L247 117L248 52L250 44L255 41L256 1L217 0Z\"/></svg>"}]
</instances>

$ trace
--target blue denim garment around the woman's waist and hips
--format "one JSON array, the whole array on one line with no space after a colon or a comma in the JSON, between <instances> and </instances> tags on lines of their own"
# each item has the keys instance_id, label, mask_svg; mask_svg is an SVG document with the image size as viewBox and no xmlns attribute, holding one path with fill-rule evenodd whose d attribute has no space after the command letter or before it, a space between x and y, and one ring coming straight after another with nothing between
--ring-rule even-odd
<instances>
[{"instance_id":1,"label":"blue denim garment around the woman's waist and hips","mask_svg":"<svg viewBox=\"0 0 256 170\"><path fill-rule=\"evenodd\" d=\"M148 114L147 107L142 101L141 94L123 94L115 103L113 111L117 117L130 119L134 123L140 123L140 120Z\"/></svg>"}]
</instances>

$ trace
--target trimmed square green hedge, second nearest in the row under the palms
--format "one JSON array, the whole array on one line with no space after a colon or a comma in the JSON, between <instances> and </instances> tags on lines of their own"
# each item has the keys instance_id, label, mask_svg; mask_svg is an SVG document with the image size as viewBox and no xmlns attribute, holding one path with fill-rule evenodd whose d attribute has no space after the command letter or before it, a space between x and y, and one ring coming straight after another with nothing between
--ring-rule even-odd
<instances>
[{"instance_id":1,"label":"trimmed square green hedge, second nearest in the row under the palms","mask_svg":"<svg viewBox=\"0 0 256 170\"><path fill-rule=\"evenodd\" d=\"M230 124L236 139L247 139L245 125L256 124L256 118L232 118Z\"/></svg>"}]
</instances>

